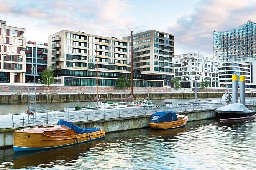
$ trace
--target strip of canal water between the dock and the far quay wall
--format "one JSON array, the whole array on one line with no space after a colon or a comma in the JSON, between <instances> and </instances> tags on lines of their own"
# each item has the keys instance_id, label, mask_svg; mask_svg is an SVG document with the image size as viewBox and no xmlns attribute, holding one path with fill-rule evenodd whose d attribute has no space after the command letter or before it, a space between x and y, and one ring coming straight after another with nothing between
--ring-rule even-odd
<instances>
[{"instance_id":1,"label":"strip of canal water between the dock and the far quay wall","mask_svg":"<svg viewBox=\"0 0 256 170\"><path fill-rule=\"evenodd\" d=\"M252 97L248 97L252 98ZM221 98L210 98L210 99L198 99L201 102L206 102L206 100L218 101ZM247 99L249 100L249 99ZM166 99L166 100L151 100L153 104L159 105L164 104L164 102L174 102L174 103L184 103L184 102L193 102L195 99ZM59 102L59 103L36 103L36 112L44 112L44 111L59 111L63 110L64 107L74 107L75 102ZM88 102L83 102L86 106ZM94 102L90 103L91 105L95 105ZM25 113L28 109L28 104L19 104L19 103L11 103L11 104L0 104L0 114L9 114L9 113Z\"/></svg>"}]
</instances>

